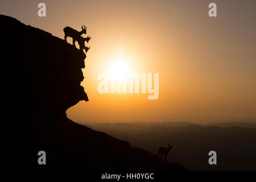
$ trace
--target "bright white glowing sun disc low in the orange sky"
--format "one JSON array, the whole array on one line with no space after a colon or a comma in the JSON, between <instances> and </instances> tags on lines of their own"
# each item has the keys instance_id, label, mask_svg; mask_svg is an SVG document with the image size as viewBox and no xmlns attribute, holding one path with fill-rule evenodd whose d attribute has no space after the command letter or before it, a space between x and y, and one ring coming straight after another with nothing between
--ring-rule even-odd
<instances>
[{"instance_id":1,"label":"bright white glowing sun disc low in the orange sky","mask_svg":"<svg viewBox=\"0 0 256 182\"><path fill-rule=\"evenodd\" d=\"M130 73L130 66L123 57L118 57L109 65L109 74L114 80L123 80Z\"/></svg>"}]
</instances>

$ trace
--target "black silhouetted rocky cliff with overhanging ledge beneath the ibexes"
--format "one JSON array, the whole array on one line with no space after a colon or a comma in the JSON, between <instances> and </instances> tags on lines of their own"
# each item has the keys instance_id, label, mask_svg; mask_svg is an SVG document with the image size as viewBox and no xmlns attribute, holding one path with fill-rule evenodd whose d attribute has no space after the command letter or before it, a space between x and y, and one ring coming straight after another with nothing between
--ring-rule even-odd
<instances>
[{"instance_id":1,"label":"black silhouetted rocky cliff with overhanging ledge beneath the ibexes","mask_svg":"<svg viewBox=\"0 0 256 182\"><path fill-rule=\"evenodd\" d=\"M3 117L1 168L184 169L67 118L88 101L85 53L46 31L0 15ZM38 164L46 151L47 164Z\"/></svg>"}]
</instances>

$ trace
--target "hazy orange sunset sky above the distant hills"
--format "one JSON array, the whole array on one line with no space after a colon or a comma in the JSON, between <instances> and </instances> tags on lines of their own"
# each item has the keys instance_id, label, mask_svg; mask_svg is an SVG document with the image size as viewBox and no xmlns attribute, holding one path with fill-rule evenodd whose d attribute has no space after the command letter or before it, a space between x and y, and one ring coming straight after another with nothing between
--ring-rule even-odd
<instances>
[{"instance_id":1,"label":"hazy orange sunset sky above the distant hills","mask_svg":"<svg viewBox=\"0 0 256 182\"><path fill-rule=\"evenodd\" d=\"M208 16L210 2L217 17ZM65 26L87 26L92 40L81 84L89 102L68 109L73 121L256 122L255 0L8 0L0 2L0 13L61 39ZM157 100L97 92L97 76L120 56L130 72L159 73Z\"/></svg>"}]
</instances>

